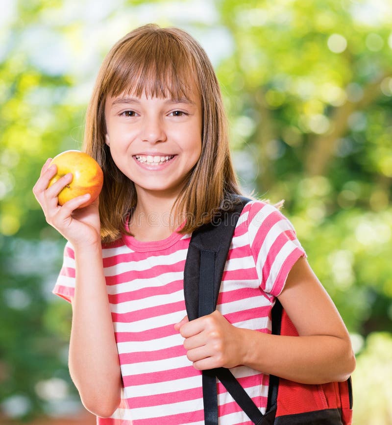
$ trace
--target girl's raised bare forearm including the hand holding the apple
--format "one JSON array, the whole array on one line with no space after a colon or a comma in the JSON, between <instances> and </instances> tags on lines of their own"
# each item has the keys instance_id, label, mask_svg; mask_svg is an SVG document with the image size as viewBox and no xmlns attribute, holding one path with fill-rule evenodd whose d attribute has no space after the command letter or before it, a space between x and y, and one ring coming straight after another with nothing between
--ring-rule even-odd
<instances>
[{"instance_id":1,"label":"girl's raised bare forearm including the hand holding the apple","mask_svg":"<svg viewBox=\"0 0 392 425\"><path fill-rule=\"evenodd\" d=\"M73 245L76 283L72 300L69 369L84 406L100 417L110 416L121 399L121 371L109 300L103 275L98 200L77 209L86 198L63 206L57 195L72 176L65 175L49 189L56 169L44 165L33 192L47 222Z\"/></svg>"}]
</instances>

